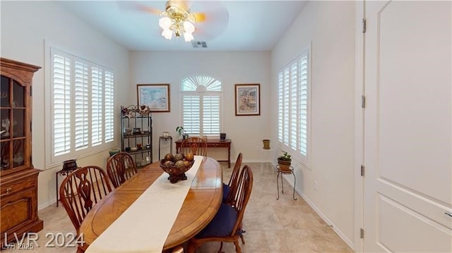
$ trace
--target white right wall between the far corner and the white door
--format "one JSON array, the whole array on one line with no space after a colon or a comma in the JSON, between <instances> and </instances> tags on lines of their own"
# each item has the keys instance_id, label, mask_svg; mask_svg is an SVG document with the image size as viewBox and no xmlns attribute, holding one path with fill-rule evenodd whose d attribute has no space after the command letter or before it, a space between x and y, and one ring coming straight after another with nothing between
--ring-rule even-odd
<instances>
[{"instance_id":1,"label":"white right wall between the far corner and the white door","mask_svg":"<svg viewBox=\"0 0 452 253\"><path fill-rule=\"evenodd\" d=\"M272 51L272 93L278 70L311 44L311 161L295 161L297 190L353 245L355 2L309 1ZM272 96L272 104L277 97ZM273 106L270 121L277 120ZM277 140L277 125L272 124ZM292 161L292 163L294 163ZM287 178L290 180L290 177ZM314 190L314 180L318 182ZM292 180L293 181L293 180ZM300 212L300 215L303 215Z\"/></svg>"}]
</instances>

